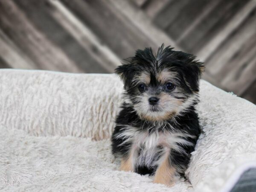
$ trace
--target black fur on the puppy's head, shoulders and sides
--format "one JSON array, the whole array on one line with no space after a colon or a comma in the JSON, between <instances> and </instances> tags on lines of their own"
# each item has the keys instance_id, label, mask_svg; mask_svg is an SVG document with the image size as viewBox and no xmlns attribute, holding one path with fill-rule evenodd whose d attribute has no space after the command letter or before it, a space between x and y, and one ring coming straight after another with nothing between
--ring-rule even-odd
<instances>
[{"instance_id":1,"label":"black fur on the puppy's head, shoulders and sides","mask_svg":"<svg viewBox=\"0 0 256 192\"><path fill-rule=\"evenodd\" d=\"M112 152L117 157L127 157L132 143L123 143L127 138L118 137L122 131L125 131L127 126L132 126L138 132L154 133L154 131L180 131L194 137L186 137L192 145L180 145L185 153L180 153L171 149L169 154L169 161L172 165L177 166L177 173L184 176L184 172L189 164L190 154L195 150L195 145L200 134L200 127L198 122L198 114L195 111L195 105L198 103L198 98L186 106L186 109L177 113L169 119L162 120L162 127L155 127L154 120L143 119L134 108L134 105L140 102L138 96L142 93L138 91L137 83L132 81L142 72L150 74L150 83L147 85L148 89L154 90L155 95L161 92L169 94L170 97L186 103L187 99L194 96L199 91L199 79L201 77L201 70L204 67L203 63L195 61L195 56L188 53L174 51L173 48L163 45L158 49L157 55L154 56L151 48L144 50L137 50L134 57L128 58L126 64L116 68L116 73L124 81L125 97L129 98L131 102L124 102L121 106L122 110L116 117L116 127L112 135ZM157 73L163 69L170 70L177 74L176 86L182 92L171 92L164 89L163 82L157 81ZM145 90L149 91L149 90ZM151 92L150 92L151 94ZM122 144L123 143L123 144ZM122 145L121 145L122 144ZM157 146L161 148L161 146ZM143 150L143 149L142 149ZM140 153L140 150L138 151ZM156 154L157 158L157 154ZM157 159L156 159L157 160ZM154 174L157 167L135 166L134 172L139 174Z\"/></svg>"}]
</instances>

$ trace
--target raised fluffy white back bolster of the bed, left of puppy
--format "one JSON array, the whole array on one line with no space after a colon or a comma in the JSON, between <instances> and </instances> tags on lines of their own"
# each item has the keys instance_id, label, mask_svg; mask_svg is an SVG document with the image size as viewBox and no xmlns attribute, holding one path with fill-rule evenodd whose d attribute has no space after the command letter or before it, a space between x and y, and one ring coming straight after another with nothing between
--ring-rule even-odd
<instances>
[{"instance_id":1,"label":"raised fluffy white back bolster of the bed, left of puppy","mask_svg":"<svg viewBox=\"0 0 256 192\"><path fill-rule=\"evenodd\" d=\"M109 138L122 83L113 75L0 70L0 123L34 136Z\"/></svg>"}]
</instances>

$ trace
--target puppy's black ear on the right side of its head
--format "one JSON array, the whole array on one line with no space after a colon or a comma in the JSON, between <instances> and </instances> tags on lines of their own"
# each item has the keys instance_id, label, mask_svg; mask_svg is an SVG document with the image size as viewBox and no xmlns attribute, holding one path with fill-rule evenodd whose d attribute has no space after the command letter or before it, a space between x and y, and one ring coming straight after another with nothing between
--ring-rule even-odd
<instances>
[{"instance_id":1,"label":"puppy's black ear on the right side of its head","mask_svg":"<svg viewBox=\"0 0 256 192\"><path fill-rule=\"evenodd\" d=\"M199 91L199 79L204 72L204 63L191 61L183 68L184 79L191 91Z\"/></svg>"}]
</instances>

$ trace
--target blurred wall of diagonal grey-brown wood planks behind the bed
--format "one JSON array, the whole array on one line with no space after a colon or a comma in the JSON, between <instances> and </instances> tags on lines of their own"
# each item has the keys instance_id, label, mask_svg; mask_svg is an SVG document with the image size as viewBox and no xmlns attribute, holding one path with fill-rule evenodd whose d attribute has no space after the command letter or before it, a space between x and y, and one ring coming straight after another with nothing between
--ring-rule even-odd
<instances>
[{"instance_id":1,"label":"blurred wall of diagonal grey-brown wood planks behind the bed","mask_svg":"<svg viewBox=\"0 0 256 192\"><path fill-rule=\"evenodd\" d=\"M165 43L256 103L256 0L0 0L0 68L113 73Z\"/></svg>"}]
</instances>

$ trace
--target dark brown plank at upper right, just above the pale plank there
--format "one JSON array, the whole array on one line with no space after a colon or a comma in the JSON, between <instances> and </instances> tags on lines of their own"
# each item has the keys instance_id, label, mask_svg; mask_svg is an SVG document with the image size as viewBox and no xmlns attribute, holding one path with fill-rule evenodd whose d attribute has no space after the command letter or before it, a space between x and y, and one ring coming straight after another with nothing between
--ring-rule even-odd
<instances>
[{"instance_id":1,"label":"dark brown plank at upper right, just above the pale plank there","mask_svg":"<svg viewBox=\"0 0 256 192\"><path fill-rule=\"evenodd\" d=\"M201 23L194 27L194 30L183 37L179 45L188 52L196 54L211 38L221 32L221 29L247 2L248 0L221 1Z\"/></svg>"}]
</instances>

